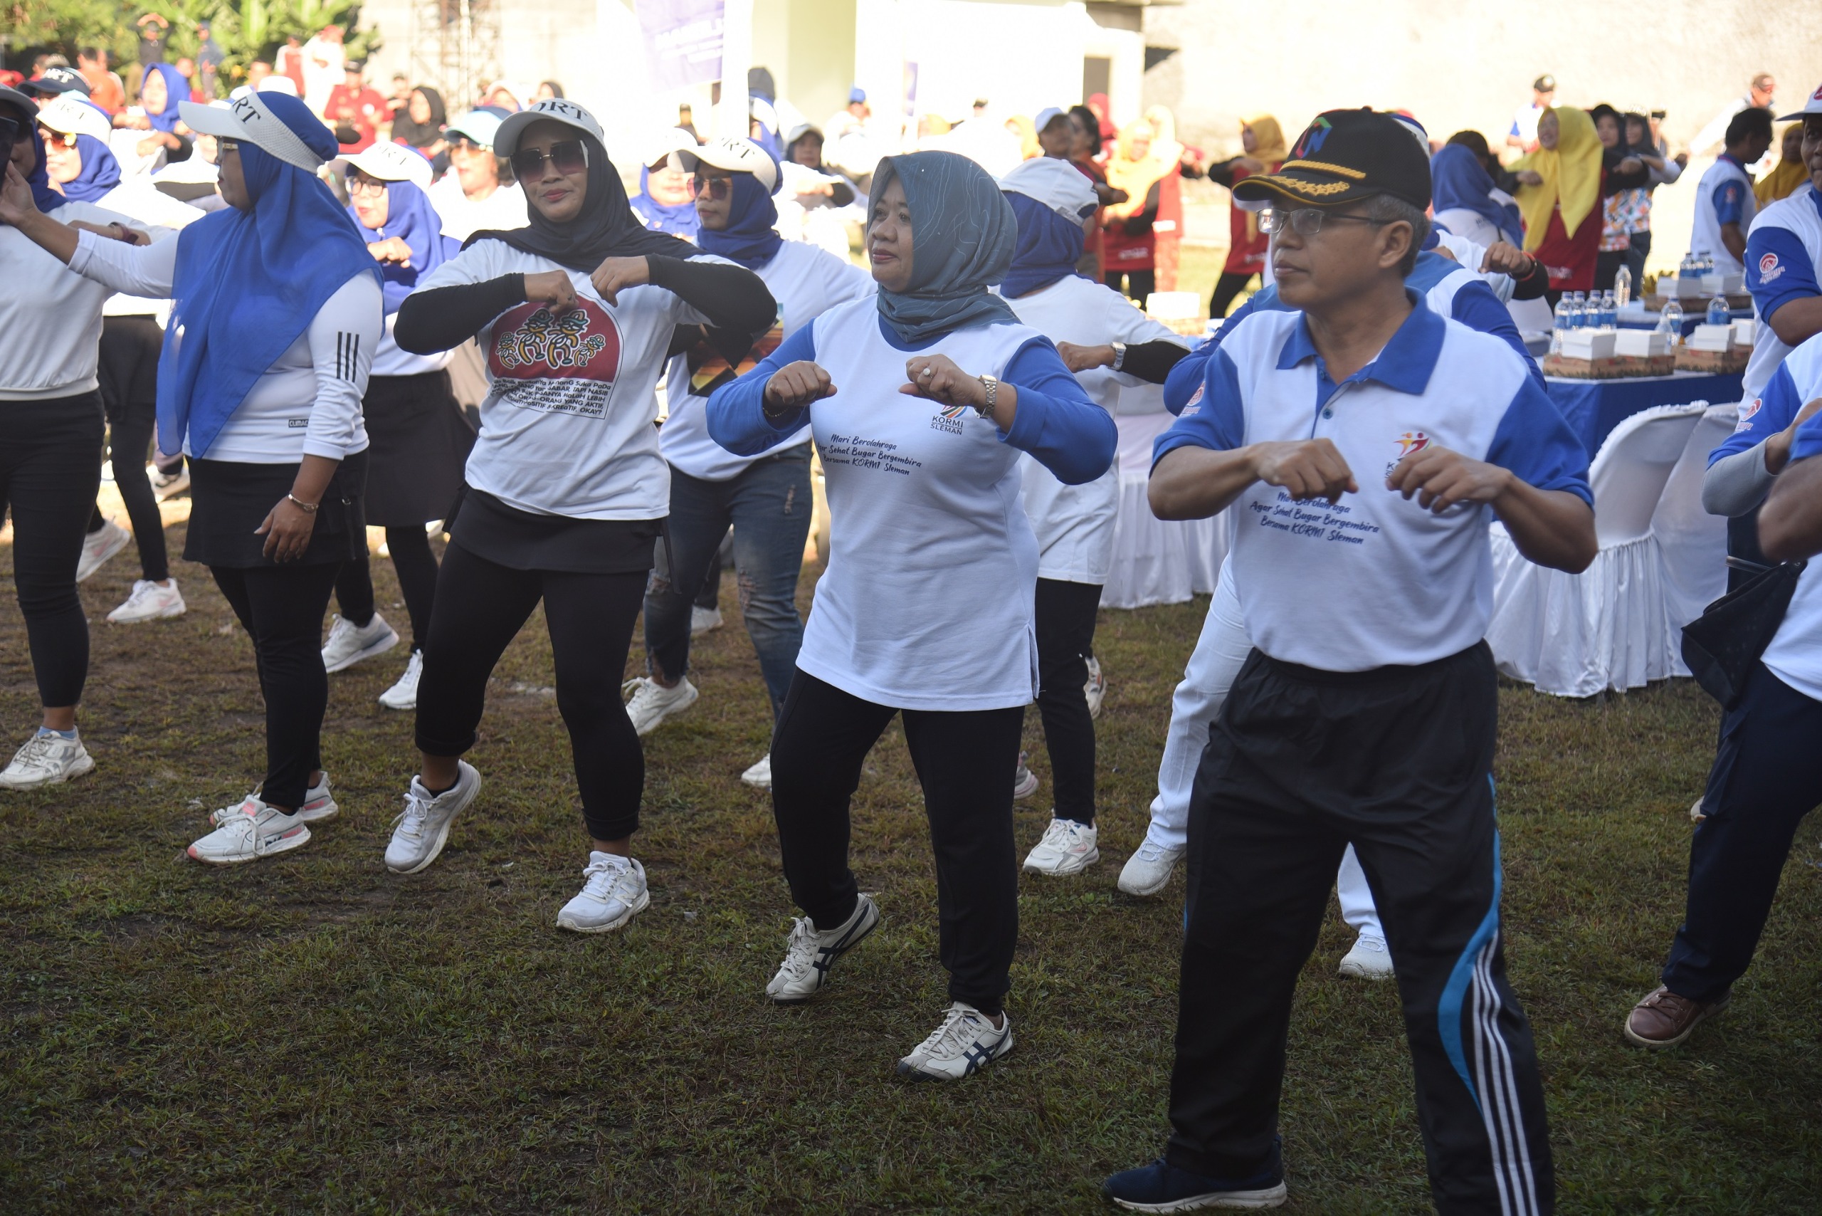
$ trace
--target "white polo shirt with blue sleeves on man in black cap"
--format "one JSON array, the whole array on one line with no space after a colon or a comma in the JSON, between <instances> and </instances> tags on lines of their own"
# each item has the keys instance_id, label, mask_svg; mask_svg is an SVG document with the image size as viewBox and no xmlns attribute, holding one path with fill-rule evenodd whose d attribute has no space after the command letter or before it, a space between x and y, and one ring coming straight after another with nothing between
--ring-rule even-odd
<instances>
[{"instance_id":1,"label":"white polo shirt with blue sleeves on man in black cap","mask_svg":"<svg viewBox=\"0 0 1822 1216\"><path fill-rule=\"evenodd\" d=\"M1252 644L1323 671L1427 664L1465 651L1492 616L1492 509L1436 514L1387 489L1410 452L1447 447L1592 505L1589 458L1498 337L1414 308L1379 356L1339 385L1301 312L1259 312L1208 359L1201 392L1159 436L1179 447L1330 439L1359 481L1341 501L1294 501L1263 481L1233 514L1233 582Z\"/></svg>"}]
</instances>

